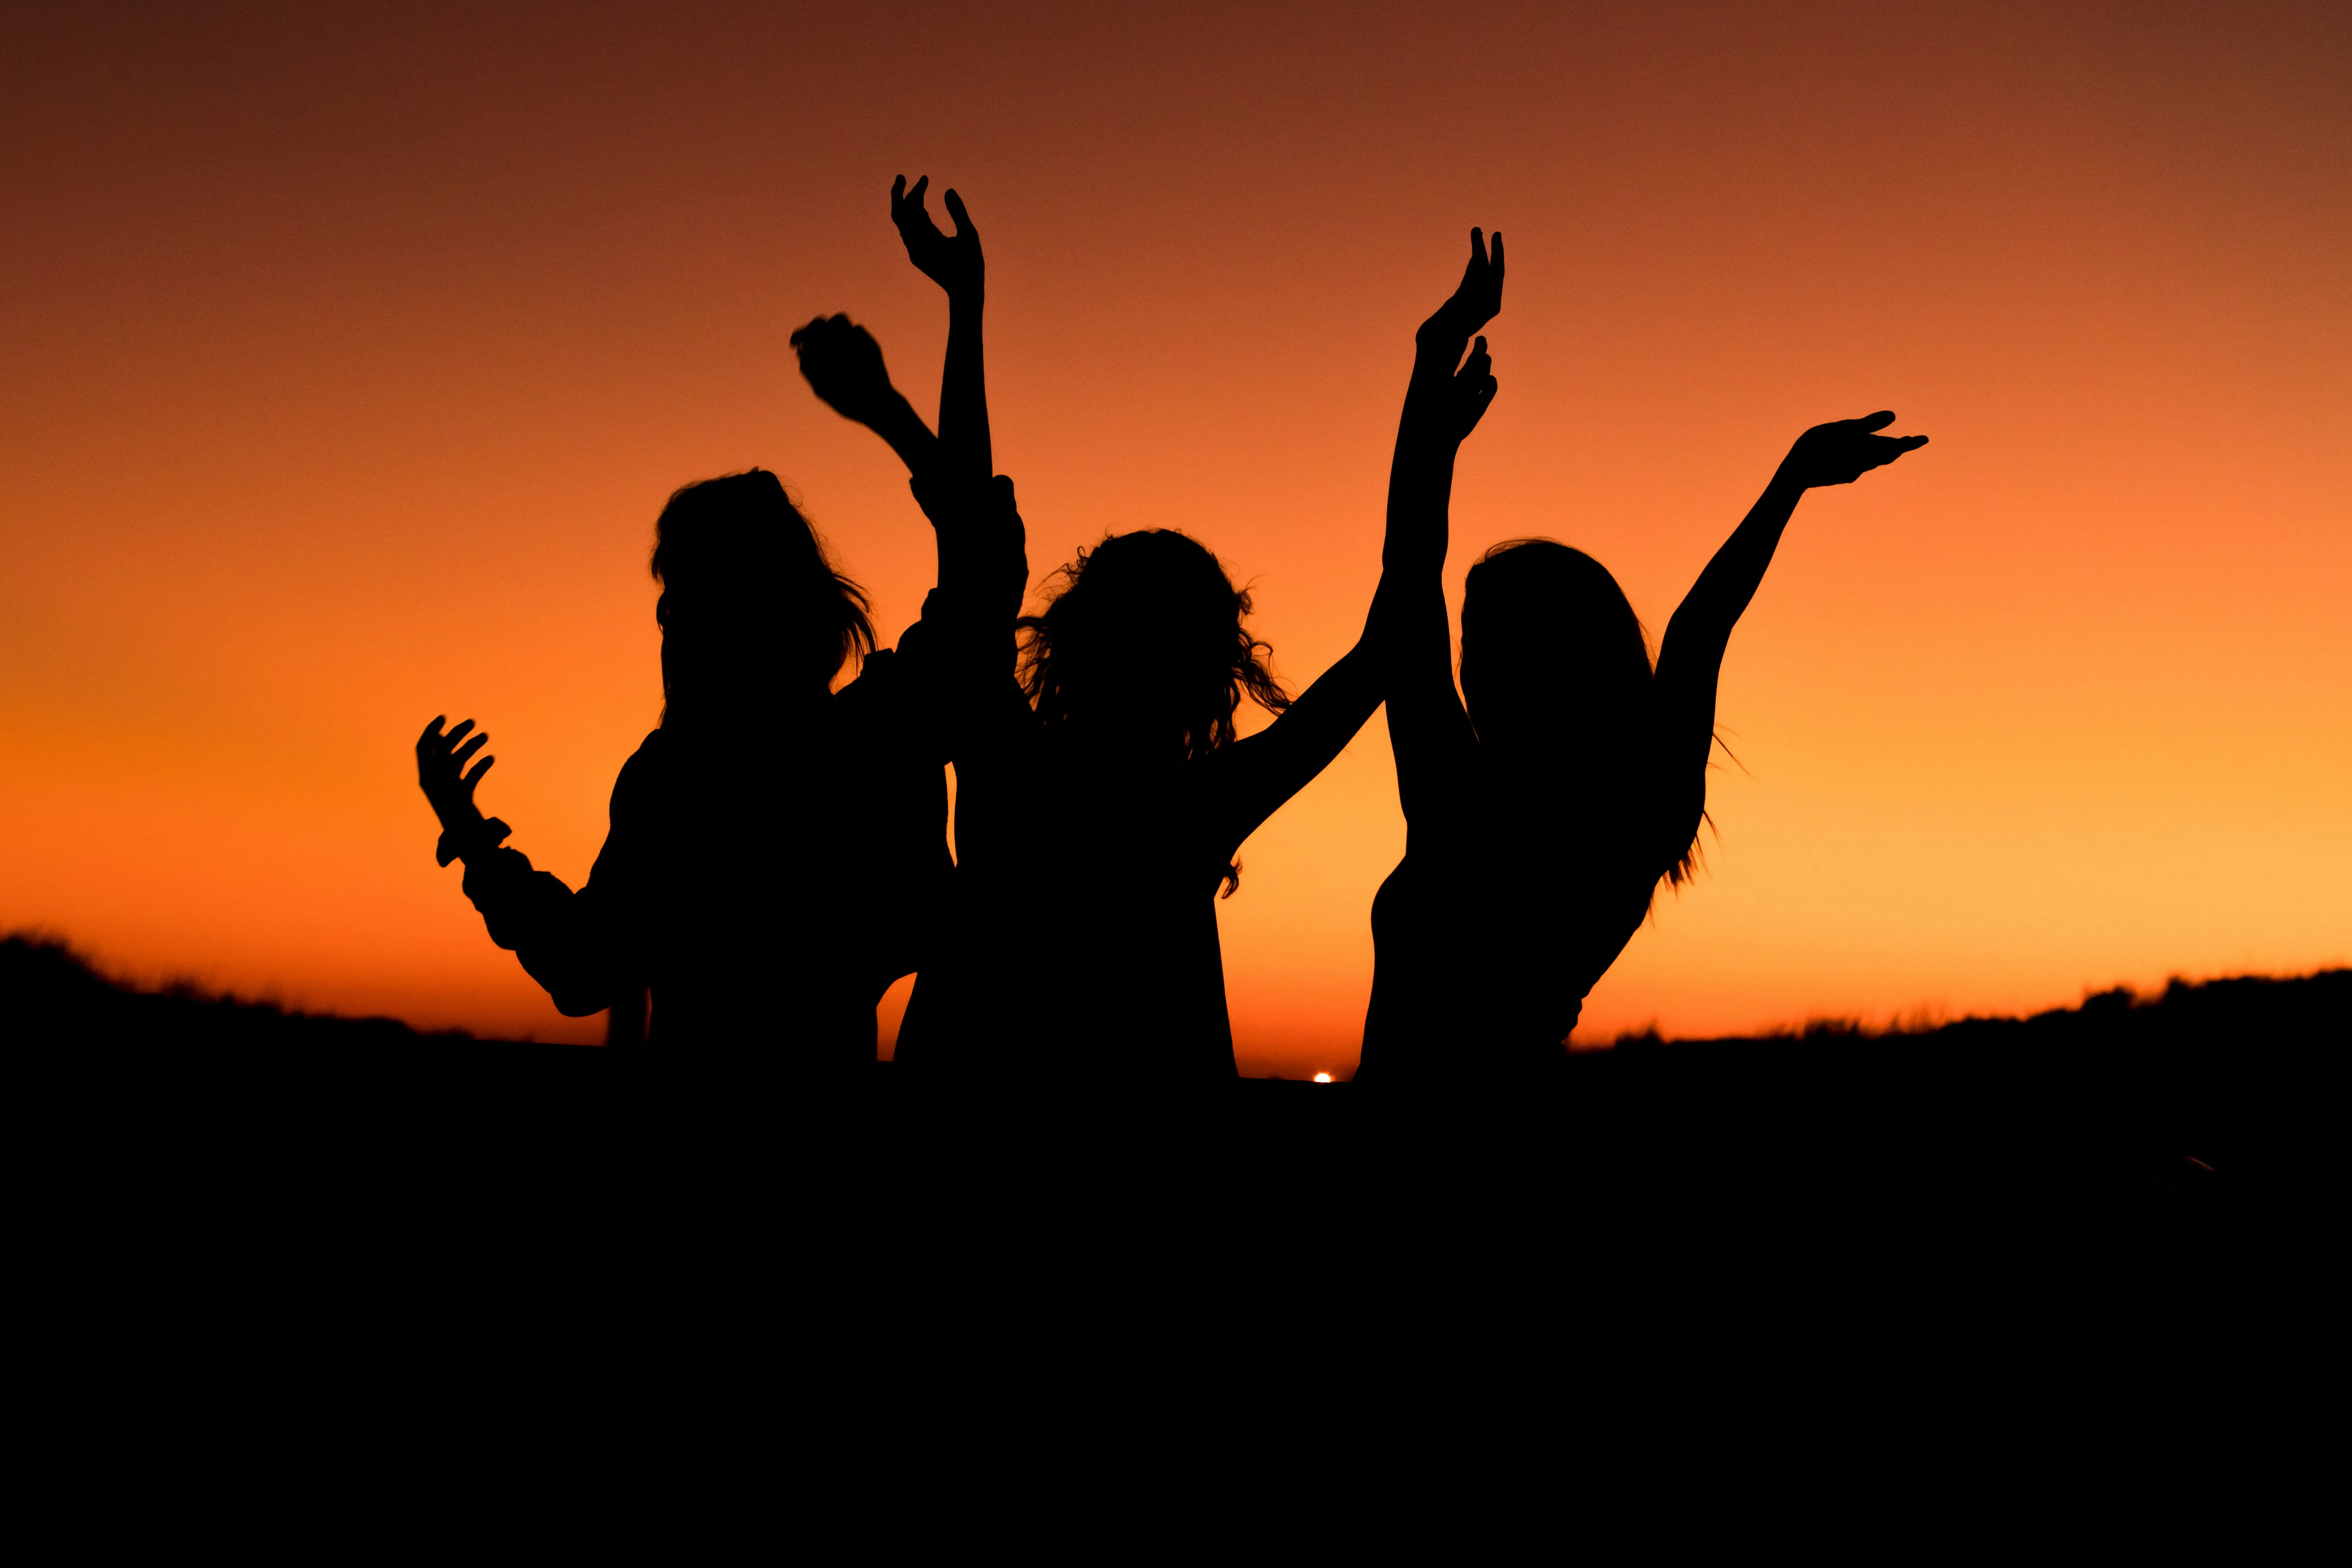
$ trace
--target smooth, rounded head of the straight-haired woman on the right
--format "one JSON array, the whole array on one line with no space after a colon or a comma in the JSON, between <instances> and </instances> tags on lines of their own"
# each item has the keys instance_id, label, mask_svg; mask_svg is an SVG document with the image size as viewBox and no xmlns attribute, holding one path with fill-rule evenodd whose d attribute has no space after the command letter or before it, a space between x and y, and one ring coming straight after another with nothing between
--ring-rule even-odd
<instances>
[{"instance_id":1,"label":"smooth, rounded head of the straight-haired woman on the right","mask_svg":"<svg viewBox=\"0 0 2352 1568\"><path fill-rule=\"evenodd\" d=\"M1606 771L1649 717L1649 637L1583 550L1505 541L1463 583L1463 703L1505 762Z\"/></svg>"}]
</instances>

